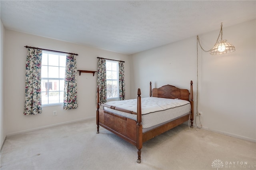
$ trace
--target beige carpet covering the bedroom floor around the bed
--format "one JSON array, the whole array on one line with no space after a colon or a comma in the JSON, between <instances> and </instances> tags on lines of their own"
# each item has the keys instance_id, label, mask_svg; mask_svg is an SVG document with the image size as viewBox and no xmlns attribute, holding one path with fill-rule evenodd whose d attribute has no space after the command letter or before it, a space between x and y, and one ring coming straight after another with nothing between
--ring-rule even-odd
<instances>
[{"instance_id":1,"label":"beige carpet covering the bedroom floor around the bed","mask_svg":"<svg viewBox=\"0 0 256 170\"><path fill-rule=\"evenodd\" d=\"M195 130L195 129L192 129ZM137 149L93 119L6 138L1 170L256 169L256 143L180 125ZM220 162L219 162L220 161ZM215 163L215 164L214 164ZM214 167L212 167L212 165Z\"/></svg>"}]
</instances>

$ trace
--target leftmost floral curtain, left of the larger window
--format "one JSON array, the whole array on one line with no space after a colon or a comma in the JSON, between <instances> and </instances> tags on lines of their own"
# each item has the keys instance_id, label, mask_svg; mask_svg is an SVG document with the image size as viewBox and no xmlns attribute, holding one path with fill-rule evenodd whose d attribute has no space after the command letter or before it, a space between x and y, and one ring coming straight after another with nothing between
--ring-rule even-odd
<instances>
[{"instance_id":1,"label":"leftmost floral curtain, left of the larger window","mask_svg":"<svg viewBox=\"0 0 256 170\"><path fill-rule=\"evenodd\" d=\"M24 115L42 113L41 97L42 50L28 48L26 59Z\"/></svg>"}]
</instances>

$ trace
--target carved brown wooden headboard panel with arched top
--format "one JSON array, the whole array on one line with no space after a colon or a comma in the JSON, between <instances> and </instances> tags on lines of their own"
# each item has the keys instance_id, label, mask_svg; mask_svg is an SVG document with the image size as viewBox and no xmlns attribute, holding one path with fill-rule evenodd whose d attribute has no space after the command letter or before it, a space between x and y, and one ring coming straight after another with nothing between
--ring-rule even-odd
<instances>
[{"instance_id":1,"label":"carved brown wooden headboard panel with arched top","mask_svg":"<svg viewBox=\"0 0 256 170\"><path fill-rule=\"evenodd\" d=\"M187 89L179 89L173 85L164 85L160 88L152 89L152 97L161 97L168 99L182 99L189 101L189 91Z\"/></svg>"}]
</instances>

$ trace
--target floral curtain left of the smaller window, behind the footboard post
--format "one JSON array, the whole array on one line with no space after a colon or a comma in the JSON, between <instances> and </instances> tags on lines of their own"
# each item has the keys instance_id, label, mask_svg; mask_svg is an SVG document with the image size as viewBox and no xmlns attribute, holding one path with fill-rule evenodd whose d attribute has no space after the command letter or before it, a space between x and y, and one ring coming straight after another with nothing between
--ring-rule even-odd
<instances>
[{"instance_id":1,"label":"floral curtain left of the smaller window, behind the footboard post","mask_svg":"<svg viewBox=\"0 0 256 170\"><path fill-rule=\"evenodd\" d=\"M98 61L98 77L97 77L97 89L100 90L100 103L107 102L107 85L106 85L106 60L99 59Z\"/></svg>"}]
</instances>

